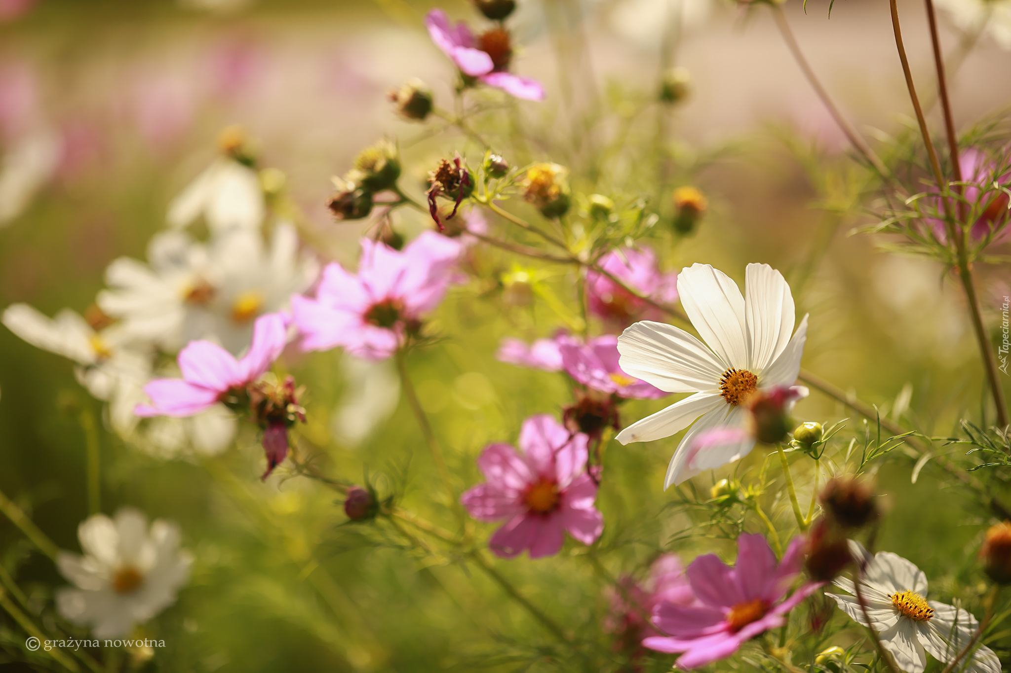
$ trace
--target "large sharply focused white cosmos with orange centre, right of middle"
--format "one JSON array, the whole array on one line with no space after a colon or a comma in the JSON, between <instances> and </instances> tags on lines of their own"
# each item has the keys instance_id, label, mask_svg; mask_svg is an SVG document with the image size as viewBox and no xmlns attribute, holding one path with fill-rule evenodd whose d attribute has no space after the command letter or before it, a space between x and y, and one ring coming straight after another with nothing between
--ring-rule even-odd
<instances>
[{"instance_id":1,"label":"large sharply focused white cosmos with orange centre, right of middle","mask_svg":"<svg viewBox=\"0 0 1011 673\"><path fill-rule=\"evenodd\" d=\"M740 403L755 389L790 386L801 369L808 317L794 332L794 298L779 271L748 264L744 291L709 264L677 275L677 294L703 343L671 325L643 321L618 338L621 367L667 392L694 392L632 424L618 434L622 444L669 437L702 418L674 451L663 487L706 469L738 460L754 448L753 437L699 452L690 461L697 435L719 426L744 427Z\"/></svg>"}]
</instances>

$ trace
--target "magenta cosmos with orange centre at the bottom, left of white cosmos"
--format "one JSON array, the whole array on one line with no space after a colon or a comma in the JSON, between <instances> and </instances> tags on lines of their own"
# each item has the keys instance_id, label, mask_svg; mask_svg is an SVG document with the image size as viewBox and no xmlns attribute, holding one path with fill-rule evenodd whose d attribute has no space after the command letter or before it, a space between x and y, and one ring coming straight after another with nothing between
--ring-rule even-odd
<instances>
[{"instance_id":1,"label":"magenta cosmos with orange centre at the bottom, left of white cosmos","mask_svg":"<svg viewBox=\"0 0 1011 673\"><path fill-rule=\"evenodd\" d=\"M737 539L737 565L728 567L716 554L700 556L687 569L694 605L662 602L653 624L668 636L650 636L642 644L657 652L681 652L677 666L693 669L725 659L746 641L782 627L784 615L822 583L809 582L784 600L803 562L803 538L790 543L783 561L761 535Z\"/></svg>"}]
</instances>

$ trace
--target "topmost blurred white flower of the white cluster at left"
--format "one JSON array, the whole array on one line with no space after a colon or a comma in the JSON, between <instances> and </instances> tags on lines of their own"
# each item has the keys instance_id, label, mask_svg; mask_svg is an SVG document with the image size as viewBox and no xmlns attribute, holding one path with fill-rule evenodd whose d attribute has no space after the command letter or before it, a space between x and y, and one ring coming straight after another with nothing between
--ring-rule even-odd
<instances>
[{"instance_id":1,"label":"topmost blurred white flower of the white cluster at left","mask_svg":"<svg viewBox=\"0 0 1011 673\"><path fill-rule=\"evenodd\" d=\"M228 157L217 158L169 204L168 223L181 228L203 215L213 233L258 230L265 206L255 171Z\"/></svg>"}]
</instances>

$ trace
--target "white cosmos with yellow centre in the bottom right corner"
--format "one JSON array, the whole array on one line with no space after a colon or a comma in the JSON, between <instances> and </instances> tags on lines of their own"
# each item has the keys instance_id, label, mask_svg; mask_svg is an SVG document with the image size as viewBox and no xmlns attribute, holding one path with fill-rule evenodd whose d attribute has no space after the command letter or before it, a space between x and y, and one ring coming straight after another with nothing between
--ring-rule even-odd
<instances>
[{"instance_id":1,"label":"white cosmos with yellow centre in the bottom right corner","mask_svg":"<svg viewBox=\"0 0 1011 673\"><path fill-rule=\"evenodd\" d=\"M856 558L868 559L869 554L859 543L850 541ZM910 561L892 552L878 552L869 559L860 581L860 592L867 606L870 626L878 632L882 645L895 657L907 673L922 673L926 652L934 659L948 663L969 645L979 624L969 611L927 600L927 577ZM840 577L836 586L855 594L853 582ZM826 593L853 621L866 627L867 620L855 595ZM988 647L980 646L972 661L959 671L1000 673L1001 662Z\"/></svg>"}]
</instances>

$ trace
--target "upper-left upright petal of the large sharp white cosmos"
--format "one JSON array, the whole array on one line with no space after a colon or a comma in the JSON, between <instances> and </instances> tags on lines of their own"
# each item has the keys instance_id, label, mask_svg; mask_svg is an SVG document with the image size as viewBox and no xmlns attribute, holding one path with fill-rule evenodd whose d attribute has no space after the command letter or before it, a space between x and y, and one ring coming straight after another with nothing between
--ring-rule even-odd
<instances>
[{"instance_id":1,"label":"upper-left upright petal of the large sharp white cosmos","mask_svg":"<svg viewBox=\"0 0 1011 673\"><path fill-rule=\"evenodd\" d=\"M677 294L692 325L724 369L746 368L744 297L737 284L723 271L697 263L677 274Z\"/></svg>"}]
</instances>

